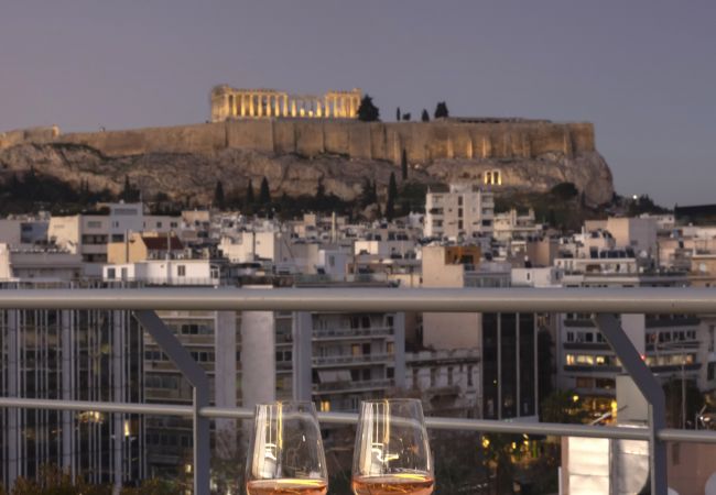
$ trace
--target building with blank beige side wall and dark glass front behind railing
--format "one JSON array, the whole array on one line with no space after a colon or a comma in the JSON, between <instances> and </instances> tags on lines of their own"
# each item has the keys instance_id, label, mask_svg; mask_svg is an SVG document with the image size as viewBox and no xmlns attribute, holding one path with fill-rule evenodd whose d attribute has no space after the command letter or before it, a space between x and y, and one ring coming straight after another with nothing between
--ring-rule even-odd
<instances>
[{"instance_id":1,"label":"building with blank beige side wall and dark glass front behind railing","mask_svg":"<svg viewBox=\"0 0 716 495\"><path fill-rule=\"evenodd\" d=\"M511 267L486 262L470 246L424 246L423 287L508 287ZM459 329L456 331L455 329ZM532 314L424 314L423 345L479 356L477 415L535 418L536 318Z\"/></svg>"}]
</instances>

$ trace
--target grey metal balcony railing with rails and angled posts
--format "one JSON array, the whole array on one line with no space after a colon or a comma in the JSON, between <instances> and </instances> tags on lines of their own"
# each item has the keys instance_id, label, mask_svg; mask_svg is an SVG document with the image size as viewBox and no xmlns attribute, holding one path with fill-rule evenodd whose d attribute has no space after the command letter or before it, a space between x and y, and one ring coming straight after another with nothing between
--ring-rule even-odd
<instances>
[{"instance_id":1,"label":"grey metal balcony railing with rails and angled posts","mask_svg":"<svg viewBox=\"0 0 716 495\"><path fill-rule=\"evenodd\" d=\"M192 360L155 310L263 310L367 312L590 312L595 326L649 403L648 428L524 424L462 418L427 418L428 428L492 433L594 437L650 442L653 494L666 494L665 441L716 443L716 432L665 428L664 396L654 376L621 330L615 314L716 314L716 290L697 288L533 289L533 288L143 288L143 289L8 289L0 292L0 309L133 310L140 323L176 363L194 386L192 406L45 400L0 397L0 407L93 410L191 417L194 420L194 493L209 493L210 418L250 419L247 408L209 407L204 371ZM355 424L357 415L323 413L326 424Z\"/></svg>"}]
</instances>

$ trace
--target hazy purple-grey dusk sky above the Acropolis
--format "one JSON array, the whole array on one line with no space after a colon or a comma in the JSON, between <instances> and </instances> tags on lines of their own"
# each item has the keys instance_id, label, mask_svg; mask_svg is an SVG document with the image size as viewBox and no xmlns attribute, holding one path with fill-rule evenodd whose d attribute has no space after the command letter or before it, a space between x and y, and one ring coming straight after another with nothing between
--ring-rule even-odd
<instances>
[{"instance_id":1,"label":"hazy purple-grey dusk sky above the Acropolis","mask_svg":"<svg viewBox=\"0 0 716 495\"><path fill-rule=\"evenodd\" d=\"M6 0L0 132L208 119L217 84L360 88L383 120L589 121L619 194L716 202L716 1Z\"/></svg>"}]
</instances>

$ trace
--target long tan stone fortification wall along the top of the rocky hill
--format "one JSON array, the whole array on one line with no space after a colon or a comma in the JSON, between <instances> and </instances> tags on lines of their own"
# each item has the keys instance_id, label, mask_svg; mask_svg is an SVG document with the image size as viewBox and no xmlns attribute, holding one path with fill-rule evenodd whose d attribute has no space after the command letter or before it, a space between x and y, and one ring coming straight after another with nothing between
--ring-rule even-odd
<instances>
[{"instance_id":1,"label":"long tan stone fortification wall along the top of the rocky hill","mask_svg":"<svg viewBox=\"0 0 716 495\"><path fill-rule=\"evenodd\" d=\"M339 154L400 163L441 158L535 158L551 152L595 151L590 123L359 122L318 119L251 119L169 128L59 134L56 128L0 134L0 147L22 142L86 144L108 156L144 153L213 153L248 148L301 156Z\"/></svg>"}]
</instances>

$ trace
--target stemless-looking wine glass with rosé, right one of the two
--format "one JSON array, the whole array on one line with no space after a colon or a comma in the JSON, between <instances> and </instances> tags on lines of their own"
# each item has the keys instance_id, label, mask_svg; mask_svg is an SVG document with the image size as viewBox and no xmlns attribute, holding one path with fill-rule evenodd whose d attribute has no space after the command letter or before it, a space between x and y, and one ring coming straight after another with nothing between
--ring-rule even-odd
<instances>
[{"instance_id":1,"label":"stemless-looking wine glass with ros\u00e9, right one of the two","mask_svg":"<svg viewBox=\"0 0 716 495\"><path fill-rule=\"evenodd\" d=\"M434 484L420 400L361 403L354 452L354 493L430 495Z\"/></svg>"}]
</instances>

